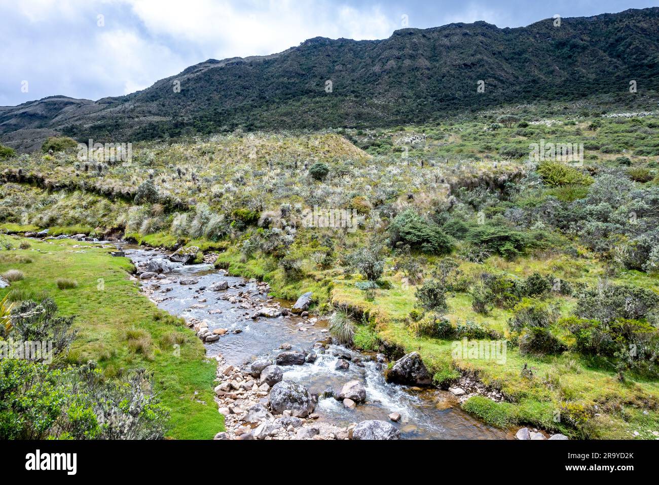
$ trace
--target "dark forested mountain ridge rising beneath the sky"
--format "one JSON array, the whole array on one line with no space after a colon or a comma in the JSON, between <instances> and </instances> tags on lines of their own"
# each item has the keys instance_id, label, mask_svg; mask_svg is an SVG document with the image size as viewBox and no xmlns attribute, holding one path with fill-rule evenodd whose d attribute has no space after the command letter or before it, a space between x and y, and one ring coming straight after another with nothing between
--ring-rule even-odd
<instances>
[{"instance_id":1,"label":"dark forested mountain ridge rising beneath the sky","mask_svg":"<svg viewBox=\"0 0 659 485\"><path fill-rule=\"evenodd\" d=\"M209 59L127 96L0 108L0 141L30 150L53 132L119 143L237 128L398 125L508 102L622 95L632 79L643 92L659 86L657 38L657 7L563 18L560 26L475 22L375 41L313 38L270 56ZM485 92L476 92L479 80Z\"/></svg>"}]
</instances>

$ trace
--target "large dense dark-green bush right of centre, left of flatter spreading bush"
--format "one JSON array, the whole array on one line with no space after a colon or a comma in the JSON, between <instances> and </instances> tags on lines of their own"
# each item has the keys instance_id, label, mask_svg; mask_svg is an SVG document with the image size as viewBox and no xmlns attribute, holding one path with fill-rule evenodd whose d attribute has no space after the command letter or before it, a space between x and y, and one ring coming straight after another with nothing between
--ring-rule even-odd
<instances>
[{"instance_id":1,"label":"large dense dark-green bush right of centre, left of flatter spreading bush","mask_svg":"<svg viewBox=\"0 0 659 485\"><path fill-rule=\"evenodd\" d=\"M426 253L448 253L451 251L451 238L432 222L424 220L413 209L407 209L393 218L389 225L393 245L409 245Z\"/></svg>"}]
</instances>

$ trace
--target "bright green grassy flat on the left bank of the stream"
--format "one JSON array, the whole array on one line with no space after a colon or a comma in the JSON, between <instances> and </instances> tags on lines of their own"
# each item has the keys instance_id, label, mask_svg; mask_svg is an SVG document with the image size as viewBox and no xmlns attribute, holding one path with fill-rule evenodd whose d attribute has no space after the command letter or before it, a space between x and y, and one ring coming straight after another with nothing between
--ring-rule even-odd
<instances>
[{"instance_id":1,"label":"bright green grassy flat on the left bank of the stream","mask_svg":"<svg viewBox=\"0 0 659 485\"><path fill-rule=\"evenodd\" d=\"M18 245L18 238L13 239ZM96 360L110 377L122 369L147 368L154 373L163 403L171 409L168 436L212 438L223 429L223 416L213 399L215 362L205 358L203 344L181 319L140 295L127 274L132 267L129 259L111 257L107 249L92 245L76 253L71 247L74 243L34 241L32 247L43 252L11 251L30 255L34 262L24 280L0 290L0 298L10 291L21 298L43 297L45 292L57 302L62 315L76 315L78 337L69 352L71 362ZM0 272L15 267L1 261ZM58 290L58 278L75 280L78 286ZM118 311L127 308L130 311ZM129 344L130 331L148 335L146 349ZM171 342L182 342L180 355Z\"/></svg>"}]
</instances>

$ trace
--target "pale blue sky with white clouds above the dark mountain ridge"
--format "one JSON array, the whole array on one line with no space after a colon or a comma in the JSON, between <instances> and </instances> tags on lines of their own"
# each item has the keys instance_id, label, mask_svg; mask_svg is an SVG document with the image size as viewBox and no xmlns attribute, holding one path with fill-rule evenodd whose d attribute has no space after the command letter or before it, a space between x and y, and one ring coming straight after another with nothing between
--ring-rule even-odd
<instances>
[{"instance_id":1,"label":"pale blue sky with white clouds above the dark mountain ridge","mask_svg":"<svg viewBox=\"0 0 659 485\"><path fill-rule=\"evenodd\" d=\"M659 5L656 0L0 0L0 106L146 88L206 59L329 38L485 20L525 26Z\"/></svg>"}]
</instances>

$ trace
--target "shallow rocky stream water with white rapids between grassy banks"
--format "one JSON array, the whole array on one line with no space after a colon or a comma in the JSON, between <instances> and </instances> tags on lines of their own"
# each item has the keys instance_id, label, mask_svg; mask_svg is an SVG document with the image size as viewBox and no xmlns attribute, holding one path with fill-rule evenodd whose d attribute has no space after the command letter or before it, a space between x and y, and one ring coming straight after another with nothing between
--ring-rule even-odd
<instances>
[{"instance_id":1,"label":"shallow rocky stream water with white rapids between grassy banks","mask_svg":"<svg viewBox=\"0 0 659 485\"><path fill-rule=\"evenodd\" d=\"M137 246L127 246L127 256L138 264L141 261L163 257L163 253ZM219 340L205 344L210 356L221 354L227 364L243 366L258 356L275 356L279 346L287 342L293 350L310 350L316 340L324 340L328 333L328 323L323 320L302 319L297 316L251 318L254 309L241 307L241 303L232 304L222 299L223 296L237 296L248 292L250 301L268 297L258 294L257 285L244 278L227 276L212 265L175 265L167 280L146 280L148 286L157 282L151 298L158 307L173 315L185 318L206 320L212 331L215 328L229 329L227 335ZM180 278L194 277L194 285L179 284ZM226 291L208 290L213 283L227 281ZM171 290L167 290L171 288ZM290 307L291 302L281 300L282 307ZM246 306L246 305L245 305ZM300 329L306 329L301 331ZM239 332L239 333L234 333ZM313 364L303 366L283 366L284 379L304 385L311 393L322 395L326 389L337 393L347 381L358 379L366 388L366 403L355 409L343 407L333 398L319 399L316 412L323 420L339 426L366 419L379 419L389 422L391 412L399 412L401 420L392 423L401 431L405 439L511 439L510 430L501 430L476 420L459 408L453 395L438 389L419 390L415 387L389 384L384 380L384 368L377 362L351 362L348 370L335 370L335 362L342 354L357 357L358 352L342 346L330 345L325 354L318 354Z\"/></svg>"}]
</instances>

